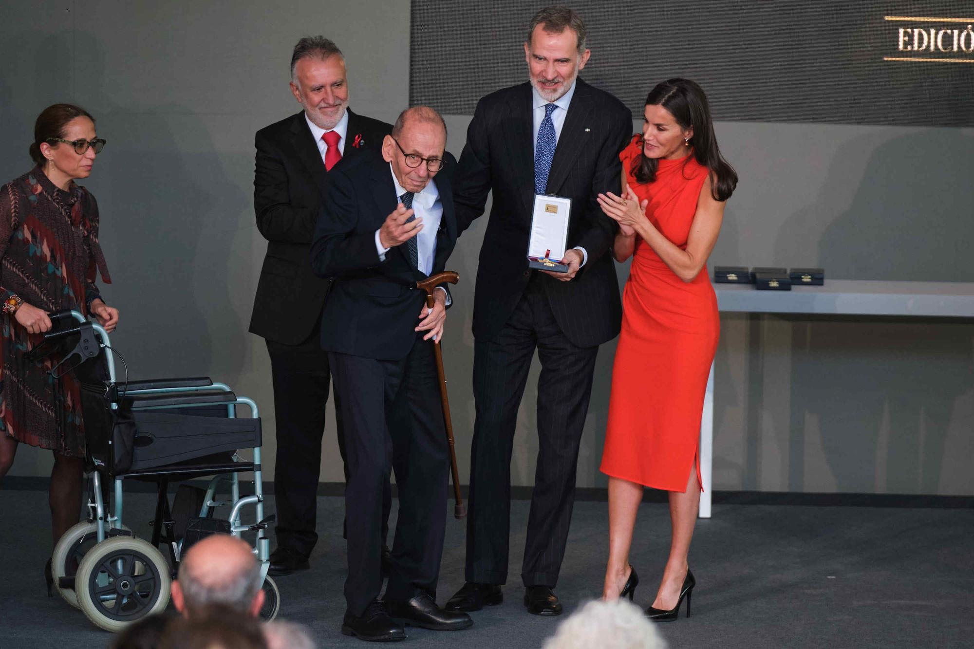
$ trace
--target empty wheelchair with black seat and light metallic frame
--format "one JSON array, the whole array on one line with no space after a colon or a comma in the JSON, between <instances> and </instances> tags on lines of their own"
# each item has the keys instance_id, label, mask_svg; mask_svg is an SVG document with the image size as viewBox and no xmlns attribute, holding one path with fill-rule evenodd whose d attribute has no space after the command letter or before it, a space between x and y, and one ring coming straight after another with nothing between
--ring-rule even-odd
<instances>
[{"instance_id":1,"label":"empty wheelchair with black seat and light metallic frame","mask_svg":"<svg viewBox=\"0 0 974 649\"><path fill-rule=\"evenodd\" d=\"M209 378L165 378L120 382L108 333L77 311L50 314L52 330L28 352L35 360L58 343L74 343L49 370L55 379L74 372L80 383L91 479L87 521L69 529L52 555L56 591L80 608L95 626L123 630L163 611L179 557L196 541L225 532L255 534L265 603L261 618L273 620L281 593L267 575L270 541L265 530L261 483L261 421L257 404ZM241 417L239 406L249 410ZM252 450L252 461L237 452ZM253 493L242 495L240 474L253 474ZM206 490L180 484L169 505L170 481L211 477ZM136 538L123 522L126 480L156 483L152 539ZM229 500L218 492L229 491ZM253 520L242 521L253 507ZM215 511L229 507L226 518ZM160 548L168 550L169 561Z\"/></svg>"}]
</instances>

